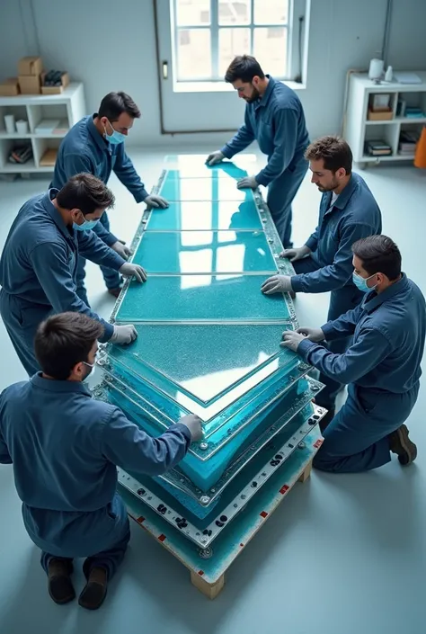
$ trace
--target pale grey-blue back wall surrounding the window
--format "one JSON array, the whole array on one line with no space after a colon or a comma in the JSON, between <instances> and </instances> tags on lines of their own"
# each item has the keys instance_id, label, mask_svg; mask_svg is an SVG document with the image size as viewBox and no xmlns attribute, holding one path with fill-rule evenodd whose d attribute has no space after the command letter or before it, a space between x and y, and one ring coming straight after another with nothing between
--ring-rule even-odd
<instances>
[{"instance_id":1,"label":"pale grey-blue back wall surrounding the window","mask_svg":"<svg viewBox=\"0 0 426 634\"><path fill-rule=\"evenodd\" d=\"M84 82L89 112L111 90L132 95L143 120L129 144L200 140L160 135L152 0L122 5L112 0L1 0L1 10L0 76L15 75L18 58L40 52L46 67L67 69ZM346 72L367 68L381 49L385 17L386 0L311 0L307 85L299 95L312 138L340 130ZM388 56L394 68L426 67L425 24L425 0L394 0ZM223 112L226 127L241 121L241 100L235 94L222 97L212 129L223 127ZM212 144L216 141L212 138Z\"/></svg>"}]
</instances>

